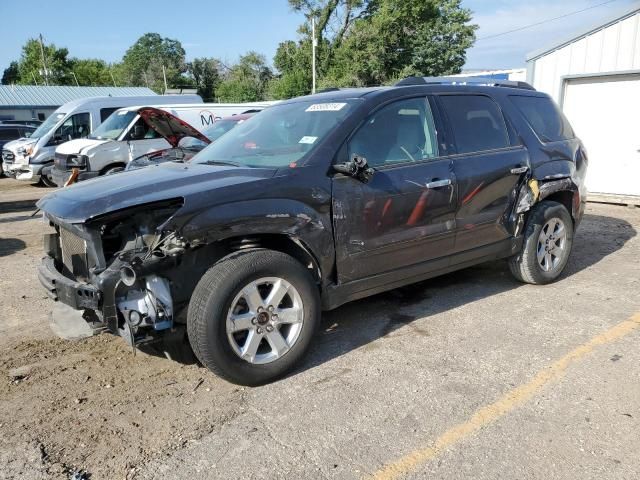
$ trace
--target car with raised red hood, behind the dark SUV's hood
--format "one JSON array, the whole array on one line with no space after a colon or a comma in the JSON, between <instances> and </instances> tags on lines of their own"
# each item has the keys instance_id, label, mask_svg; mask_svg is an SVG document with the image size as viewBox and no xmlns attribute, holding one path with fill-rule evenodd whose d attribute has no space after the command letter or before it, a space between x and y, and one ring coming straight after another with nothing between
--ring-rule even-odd
<instances>
[{"instance_id":1,"label":"car with raised red hood, behind the dark SUV's hood","mask_svg":"<svg viewBox=\"0 0 640 480\"><path fill-rule=\"evenodd\" d=\"M134 158L127 164L127 167L125 168L126 171L137 170L139 168L148 167L149 165L158 165L165 162L187 162L211 142L217 140L233 127L240 125L254 115L253 113L245 113L233 115L231 117L224 117L216 121L213 124L213 127L209 127L204 132L200 133L190 125L183 124L184 122L181 122L180 119L174 117L170 113L163 112L163 114L164 115L162 116L164 118L162 126L164 128L156 128L153 127L153 125L150 126L158 132L158 135L169 142L171 148L158 150L156 152ZM179 134L176 135L175 132L179 132Z\"/></svg>"}]
</instances>

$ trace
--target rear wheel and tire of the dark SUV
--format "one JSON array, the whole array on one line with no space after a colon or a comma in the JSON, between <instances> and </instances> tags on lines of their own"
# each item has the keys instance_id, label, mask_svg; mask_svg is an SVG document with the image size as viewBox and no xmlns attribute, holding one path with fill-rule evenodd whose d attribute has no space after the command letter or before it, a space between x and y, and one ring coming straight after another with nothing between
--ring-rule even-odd
<instances>
[{"instance_id":1,"label":"rear wheel and tire of the dark SUV","mask_svg":"<svg viewBox=\"0 0 640 480\"><path fill-rule=\"evenodd\" d=\"M534 285L555 281L569 261L573 233L573 220L564 205L547 200L537 204L527 219L522 251L509 259L513 276Z\"/></svg>"}]
</instances>

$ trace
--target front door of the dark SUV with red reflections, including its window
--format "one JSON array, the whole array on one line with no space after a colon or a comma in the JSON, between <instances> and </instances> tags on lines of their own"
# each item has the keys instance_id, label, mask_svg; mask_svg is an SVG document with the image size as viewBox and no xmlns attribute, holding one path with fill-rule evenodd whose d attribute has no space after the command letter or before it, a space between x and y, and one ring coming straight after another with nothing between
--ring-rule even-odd
<instances>
[{"instance_id":1,"label":"front door of the dark SUV with red reflections, including its window","mask_svg":"<svg viewBox=\"0 0 640 480\"><path fill-rule=\"evenodd\" d=\"M368 183L333 179L338 283L448 265L457 188L439 143L425 97L387 104L351 137L349 158L365 157L375 173Z\"/></svg>"}]
</instances>

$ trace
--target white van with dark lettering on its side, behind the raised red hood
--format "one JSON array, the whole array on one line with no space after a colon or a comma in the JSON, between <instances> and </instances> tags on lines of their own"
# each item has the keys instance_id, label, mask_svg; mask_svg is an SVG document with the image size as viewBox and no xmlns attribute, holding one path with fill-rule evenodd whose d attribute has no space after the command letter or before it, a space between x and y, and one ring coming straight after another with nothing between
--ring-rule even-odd
<instances>
[{"instance_id":1,"label":"white van with dark lettering on its side, behind the raised red hood","mask_svg":"<svg viewBox=\"0 0 640 480\"><path fill-rule=\"evenodd\" d=\"M277 102L203 103L200 105L156 105L200 132L222 117L259 112ZM56 148L51 173L54 183L63 186L74 168L77 181L115 173L134 158L170 148L167 140L145 122L138 113L149 105L115 111L88 138L72 140Z\"/></svg>"}]
</instances>

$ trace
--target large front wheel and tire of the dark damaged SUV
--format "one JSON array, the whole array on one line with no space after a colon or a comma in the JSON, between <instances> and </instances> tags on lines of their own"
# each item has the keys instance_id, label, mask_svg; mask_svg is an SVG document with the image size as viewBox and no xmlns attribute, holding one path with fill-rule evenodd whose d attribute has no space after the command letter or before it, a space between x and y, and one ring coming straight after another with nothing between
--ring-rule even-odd
<instances>
[{"instance_id":1,"label":"large front wheel and tire of the dark damaged SUV","mask_svg":"<svg viewBox=\"0 0 640 480\"><path fill-rule=\"evenodd\" d=\"M290 371L319 323L320 298L309 271L289 255L255 249L225 257L202 276L187 329L203 365L255 386Z\"/></svg>"}]
</instances>

